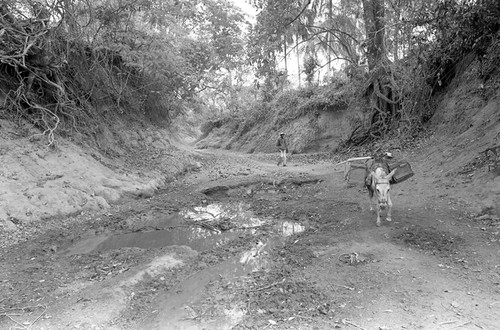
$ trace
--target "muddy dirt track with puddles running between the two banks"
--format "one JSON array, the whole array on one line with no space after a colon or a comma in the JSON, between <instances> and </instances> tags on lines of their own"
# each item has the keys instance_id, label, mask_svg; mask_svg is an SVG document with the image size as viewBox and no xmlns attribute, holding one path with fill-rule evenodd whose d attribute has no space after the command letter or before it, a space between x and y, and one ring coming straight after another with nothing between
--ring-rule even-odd
<instances>
[{"instance_id":1,"label":"muddy dirt track with puddles running between the two banks","mask_svg":"<svg viewBox=\"0 0 500 330\"><path fill-rule=\"evenodd\" d=\"M4 244L0 328L500 328L500 221L417 162L376 227L328 155L198 157L149 199Z\"/></svg>"}]
</instances>

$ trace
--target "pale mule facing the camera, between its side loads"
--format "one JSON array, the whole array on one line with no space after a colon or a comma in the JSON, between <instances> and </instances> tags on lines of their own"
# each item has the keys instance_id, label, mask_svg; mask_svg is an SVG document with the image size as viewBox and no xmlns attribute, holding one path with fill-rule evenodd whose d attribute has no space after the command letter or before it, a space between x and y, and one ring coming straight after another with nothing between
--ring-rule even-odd
<instances>
[{"instance_id":1,"label":"pale mule facing the camera, between its side loads","mask_svg":"<svg viewBox=\"0 0 500 330\"><path fill-rule=\"evenodd\" d=\"M370 169L366 177L365 185L368 188L370 197L370 211L373 211L373 197L377 197L375 211L377 212L377 226L380 226L380 212L387 208L387 221L392 221L392 201L391 201L391 179L396 173L396 169L387 174L382 165L377 165L374 170Z\"/></svg>"}]
</instances>

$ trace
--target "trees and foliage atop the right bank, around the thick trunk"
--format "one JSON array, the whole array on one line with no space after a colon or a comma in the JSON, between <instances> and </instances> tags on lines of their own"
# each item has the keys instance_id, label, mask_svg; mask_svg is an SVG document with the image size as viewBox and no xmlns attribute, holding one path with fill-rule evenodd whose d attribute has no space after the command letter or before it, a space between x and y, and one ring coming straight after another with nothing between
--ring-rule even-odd
<instances>
[{"instance_id":1,"label":"trees and foliage atop the right bank, around the thick trunk","mask_svg":"<svg viewBox=\"0 0 500 330\"><path fill-rule=\"evenodd\" d=\"M266 82L260 86L263 100L277 97L287 86L287 59L293 56L302 67L306 89L327 83L340 71L349 83L330 87L355 94L352 101L362 101L353 109L364 109L350 114L353 131L347 144L393 134L411 137L433 115L431 96L461 68L478 59L487 79L498 63L494 46L500 7L495 0L253 3L260 12L250 35L250 60ZM267 83L276 80L283 60L285 82ZM340 70L333 65L338 61L344 63ZM326 79L320 81L316 77L325 67Z\"/></svg>"}]
</instances>

